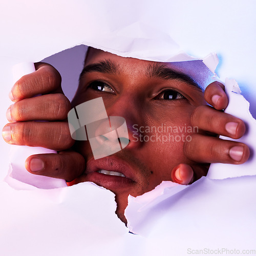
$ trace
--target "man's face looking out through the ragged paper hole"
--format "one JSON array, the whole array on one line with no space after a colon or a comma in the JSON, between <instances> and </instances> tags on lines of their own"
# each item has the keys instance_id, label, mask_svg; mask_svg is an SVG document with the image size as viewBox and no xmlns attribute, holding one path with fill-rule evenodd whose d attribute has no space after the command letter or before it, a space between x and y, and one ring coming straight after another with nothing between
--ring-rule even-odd
<instances>
[{"instance_id":1,"label":"man's face looking out through the ragged paper hole","mask_svg":"<svg viewBox=\"0 0 256 256\"><path fill-rule=\"evenodd\" d=\"M172 63L96 49L90 49L86 58L73 106L102 97L108 116L125 119L130 143L94 160L89 142L77 141L76 150L87 168L75 182L92 181L113 191L117 214L124 222L129 195L142 195L163 180L172 181L171 170L180 163L193 164L183 154L183 143L193 134L191 112L205 101L193 82L174 71Z\"/></svg>"}]
</instances>

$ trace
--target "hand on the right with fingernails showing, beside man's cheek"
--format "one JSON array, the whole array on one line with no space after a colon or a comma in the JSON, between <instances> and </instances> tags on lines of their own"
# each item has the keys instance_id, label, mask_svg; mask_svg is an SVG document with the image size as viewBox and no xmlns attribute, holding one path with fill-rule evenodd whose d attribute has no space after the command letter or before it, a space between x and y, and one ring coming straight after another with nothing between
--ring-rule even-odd
<instances>
[{"instance_id":1,"label":"hand on the right with fingernails showing, beside man's cheek","mask_svg":"<svg viewBox=\"0 0 256 256\"><path fill-rule=\"evenodd\" d=\"M244 122L221 110L228 105L224 86L220 82L209 84L204 93L205 100L212 105L198 106L191 115L191 124L199 128L190 142L183 146L187 158L195 165L180 164L173 169L173 180L180 184L189 184L207 174L209 163L242 164L249 158L247 145L222 140L217 135L239 139L245 133Z\"/></svg>"}]
</instances>

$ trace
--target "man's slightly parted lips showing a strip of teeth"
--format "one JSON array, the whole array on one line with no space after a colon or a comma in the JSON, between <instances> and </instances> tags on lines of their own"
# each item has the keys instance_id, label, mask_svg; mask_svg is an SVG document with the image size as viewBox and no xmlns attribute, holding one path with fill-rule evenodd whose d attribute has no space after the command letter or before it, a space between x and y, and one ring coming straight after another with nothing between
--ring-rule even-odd
<instances>
[{"instance_id":1,"label":"man's slightly parted lips showing a strip of teeth","mask_svg":"<svg viewBox=\"0 0 256 256\"><path fill-rule=\"evenodd\" d=\"M98 173L100 169L118 172L125 177L105 175ZM136 183L136 173L133 168L120 158L111 156L100 159L90 159L87 162L86 172L87 181L92 181L99 186L110 190L127 189Z\"/></svg>"}]
</instances>

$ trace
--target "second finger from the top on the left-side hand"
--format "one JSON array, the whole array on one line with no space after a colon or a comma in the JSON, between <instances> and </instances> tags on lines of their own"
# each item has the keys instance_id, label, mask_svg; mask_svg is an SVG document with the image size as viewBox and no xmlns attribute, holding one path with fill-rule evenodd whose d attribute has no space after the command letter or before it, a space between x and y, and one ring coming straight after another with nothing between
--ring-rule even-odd
<instances>
[{"instance_id":1,"label":"second finger from the top on the left-side hand","mask_svg":"<svg viewBox=\"0 0 256 256\"><path fill-rule=\"evenodd\" d=\"M68 98L55 93L17 101L9 107L6 117L10 122L64 120L70 109Z\"/></svg>"}]
</instances>

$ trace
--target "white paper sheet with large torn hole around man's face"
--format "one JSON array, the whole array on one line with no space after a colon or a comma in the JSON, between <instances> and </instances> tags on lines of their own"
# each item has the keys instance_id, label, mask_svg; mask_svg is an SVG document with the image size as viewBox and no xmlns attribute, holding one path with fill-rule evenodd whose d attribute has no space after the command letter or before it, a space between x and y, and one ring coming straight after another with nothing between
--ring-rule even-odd
<instances>
[{"instance_id":1,"label":"white paper sheet with large torn hole around man's face","mask_svg":"<svg viewBox=\"0 0 256 256\"><path fill-rule=\"evenodd\" d=\"M181 50L199 56L197 59L217 52L221 59L218 75L222 80L236 77L239 84L242 82L250 109L256 113L256 16L252 1L217 0L210 6L203 0L6 1L1 3L0 14L1 126L7 122L5 112L11 104L7 100L11 67L20 61L39 61L81 43L121 56L160 61L184 60ZM76 55L79 61L83 59L81 52ZM72 61L67 66L72 72ZM2 140L1 180L8 170L7 152L8 145ZM138 235L128 233L117 219L114 195L90 183L18 191L1 182L1 253L186 255L189 249L255 249L255 182L255 176L206 177L182 191L166 189L155 203L138 212L131 200L129 225ZM135 216L143 220L140 225Z\"/></svg>"}]
</instances>

